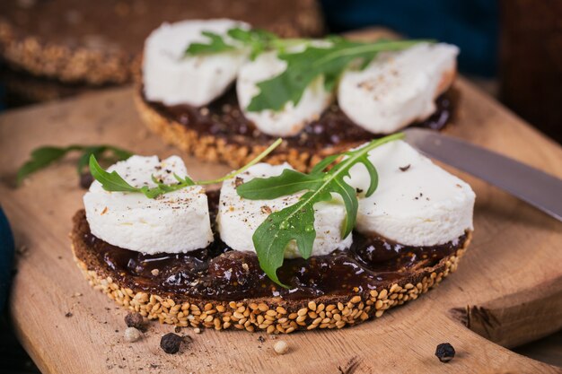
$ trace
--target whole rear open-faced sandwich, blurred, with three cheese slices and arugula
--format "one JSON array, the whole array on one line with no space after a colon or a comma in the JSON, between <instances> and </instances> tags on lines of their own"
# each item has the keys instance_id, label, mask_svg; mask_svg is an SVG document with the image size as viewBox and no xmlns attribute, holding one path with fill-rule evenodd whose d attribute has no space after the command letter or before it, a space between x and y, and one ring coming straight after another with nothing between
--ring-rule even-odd
<instances>
[{"instance_id":1,"label":"whole rear open-faced sandwich, blurred, with three cheese slices and arugula","mask_svg":"<svg viewBox=\"0 0 562 374\"><path fill-rule=\"evenodd\" d=\"M405 126L451 117L458 48L424 40L280 39L232 20L164 24L145 41L136 103L164 140L207 161L310 170Z\"/></svg>"}]
</instances>

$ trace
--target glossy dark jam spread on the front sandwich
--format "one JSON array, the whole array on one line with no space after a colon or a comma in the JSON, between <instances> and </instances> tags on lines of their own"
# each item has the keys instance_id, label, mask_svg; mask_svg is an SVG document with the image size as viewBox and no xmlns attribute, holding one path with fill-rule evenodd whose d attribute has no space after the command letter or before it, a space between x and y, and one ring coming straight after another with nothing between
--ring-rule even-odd
<instances>
[{"instance_id":1,"label":"glossy dark jam spread on the front sandwich","mask_svg":"<svg viewBox=\"0 0 562 374\"><path fill-rule=\"evenodd\" d=\"M211 222L215 222L218 191L207 192ZM436 265L461 248L466 235L444 245L408 247L380 237L353 233L349 250L327 256L285 259L277 271L290 289L271 282L252 252L229 248L215 236L208 248L186 254L143 255L118 248L92 235L80 217L83 240L98 260L109 266L119 282L158 294L182 293L213 300L242 300L282 296L302 299L349 291L366 291L402 278L408 272ZM85 225L85 226L84 226ZM216 232L216 230L215 230Z\"/></svg>"}]
</instances>

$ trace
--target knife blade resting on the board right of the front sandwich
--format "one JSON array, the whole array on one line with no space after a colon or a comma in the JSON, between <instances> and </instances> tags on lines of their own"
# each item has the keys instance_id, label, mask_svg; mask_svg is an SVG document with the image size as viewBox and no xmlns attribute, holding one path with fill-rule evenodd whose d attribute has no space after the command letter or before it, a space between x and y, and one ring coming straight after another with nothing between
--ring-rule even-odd
<instances>
[{"instance_id":1,"label":"knife blade resting on the board right of the front sandwich","mask_svg":"<svg viewBox=\"0 0 562 374\"><path fill-rule=\"evenodd\" d=\"M428 157L463 170L562 222L562 180L434 130L404 130L406 142Z\"/></svg>"}]
</instances>

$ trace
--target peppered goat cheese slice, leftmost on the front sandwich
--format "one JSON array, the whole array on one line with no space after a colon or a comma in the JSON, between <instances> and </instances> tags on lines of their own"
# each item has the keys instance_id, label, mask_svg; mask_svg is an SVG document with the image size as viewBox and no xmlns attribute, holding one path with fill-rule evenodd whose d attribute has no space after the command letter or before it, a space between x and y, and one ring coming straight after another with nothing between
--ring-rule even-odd
<instances>
[{"instance_id":1,"label":"peppered goat cheese slice, leftmost on the front sandwich","mask_svg":"<svg viewBox=\"0 0 562 374\"><path fill-rule=\"evenodd\" d=\"M167 184L177 183L174 173L188 175L177 156L163 161L132 156L108 169L113 170L135 187L155 187L152 175ZM150 199L139 193L109 192L94 181L83 203L92 234L120 248L145 254L185 253L213 241L206 194L200 186Z\"/></svg>"}]
</instances>

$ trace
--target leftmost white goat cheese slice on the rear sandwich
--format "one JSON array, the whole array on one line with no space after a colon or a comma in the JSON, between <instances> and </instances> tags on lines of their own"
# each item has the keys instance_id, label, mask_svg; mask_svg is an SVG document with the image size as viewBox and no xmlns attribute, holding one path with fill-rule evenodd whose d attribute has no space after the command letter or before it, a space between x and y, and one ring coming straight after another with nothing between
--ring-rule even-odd
<instances>
[{"instance_id":1,"label":"leftmost white goat cheese slice on the rear sandwich","mask_svg":"<svg viewBox=\"0 0 562 374\"><path fill-rule=\"evenodd\" d=\"M225 36L233 28L249 29L244 22L227 19L163 23L145 41L143 85L145 98L165 105L201 107L224 93L236 79L249 52L233 50L201 56L185 56L191 43L206 43L201 33ZM233 40L225 37L227 43Z\"/></svg>"}]
</instances>

